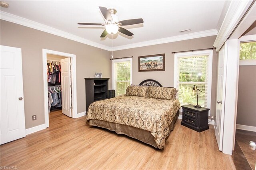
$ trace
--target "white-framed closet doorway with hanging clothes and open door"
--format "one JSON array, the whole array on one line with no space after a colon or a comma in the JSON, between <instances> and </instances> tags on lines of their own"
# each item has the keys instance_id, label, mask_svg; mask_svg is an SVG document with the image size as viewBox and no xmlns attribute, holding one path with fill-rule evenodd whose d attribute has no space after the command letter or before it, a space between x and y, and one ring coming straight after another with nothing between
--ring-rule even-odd
<instances>
[{"instance_id":1,"label":"white-framed closet doorway with hanging clothes and open door","mask_svg":"<svg viewBox=\"0 0 256 170\"><path fill-rule=\"evenodd\" d=\"M76 55L43 49L43 72L46 127L52 111L76 118Z\"/></svg>"}]
</instances>

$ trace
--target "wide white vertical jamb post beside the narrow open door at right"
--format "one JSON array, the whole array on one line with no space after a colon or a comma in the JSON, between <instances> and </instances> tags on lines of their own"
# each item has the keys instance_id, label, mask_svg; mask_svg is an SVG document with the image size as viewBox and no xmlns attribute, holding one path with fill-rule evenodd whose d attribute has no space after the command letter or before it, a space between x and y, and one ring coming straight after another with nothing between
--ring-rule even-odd
<instances>
[{"instance_id":1,"label":"wide white vertical jamb post beside the narrow open door at right","mask_svg":"<svg viewBox=\"0 0 256 170\"><path fill-rule=\"evenodd\" d=\"M232 155L234 127L236 125L236 104L237 104L237 81L239 68L240 43L238 39L227 40L227 68L226 68L226 92L222 98L224 100L224 127L222 152ZM226 47L225 47L226 48ZM223 105L223 103L222 103Z\"/></svg>"}]
</instances>

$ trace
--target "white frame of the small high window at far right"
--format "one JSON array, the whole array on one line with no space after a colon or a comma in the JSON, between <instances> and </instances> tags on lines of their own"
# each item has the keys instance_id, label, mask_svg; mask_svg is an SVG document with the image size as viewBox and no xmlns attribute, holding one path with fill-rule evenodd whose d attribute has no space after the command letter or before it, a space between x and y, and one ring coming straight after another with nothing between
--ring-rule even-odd
<instances>
[{"instance_id":1,"label":"white frame of the small high window at far right","mask_svg":"<svg viewBox=\"0 0 256 170\"><path fill-rule=\"evenodd\" d=\"M240 55L240 43L255 42L256 35L242 36L239 40L239 55ZM239 56L239 65L256 65L256 59L241 59Z\"/></svg>"}]
</instances>

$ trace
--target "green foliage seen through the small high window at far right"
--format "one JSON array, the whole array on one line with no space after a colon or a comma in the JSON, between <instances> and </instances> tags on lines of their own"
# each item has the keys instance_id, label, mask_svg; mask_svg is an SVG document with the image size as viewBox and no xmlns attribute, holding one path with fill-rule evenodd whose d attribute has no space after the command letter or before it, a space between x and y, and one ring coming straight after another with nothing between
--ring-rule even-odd
<instances>
[{"instance_id":1,"label":"green foliage seen through the small high window at far right","mask_svg":"<svg viewBox=\"0 0 256 170\"><path fill-rule=\"evenodd\" d=\"M256 59L256 42L240 43L240 60Z\"/></svg>"}]
</instances>

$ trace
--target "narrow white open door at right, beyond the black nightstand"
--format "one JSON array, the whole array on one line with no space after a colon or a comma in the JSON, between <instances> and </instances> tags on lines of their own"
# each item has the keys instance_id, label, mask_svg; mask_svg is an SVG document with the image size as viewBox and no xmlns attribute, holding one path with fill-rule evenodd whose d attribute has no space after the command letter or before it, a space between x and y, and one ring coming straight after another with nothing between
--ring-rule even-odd
<instances>
[{"instance_id":1,"label":"narrow white open door at right, beyond the black nightstand","mask_svg":"<svg viewBox=\"0 0 256 170\"><path fill-rule=\"evenodd\" d=\"M219 51L218 59L218 82L217 82L217 99L216 99L216 114L214 121L215 136L219 146L222 150L223 141L223 127L224 127L224 102L226 91L226 62L227 62L227 42Z\"/></svg>"}]
</instances>

